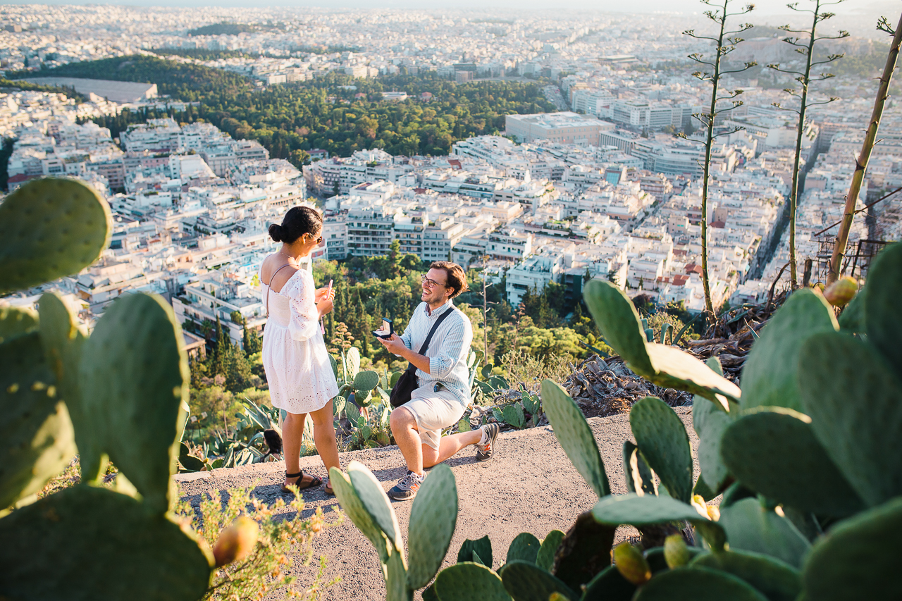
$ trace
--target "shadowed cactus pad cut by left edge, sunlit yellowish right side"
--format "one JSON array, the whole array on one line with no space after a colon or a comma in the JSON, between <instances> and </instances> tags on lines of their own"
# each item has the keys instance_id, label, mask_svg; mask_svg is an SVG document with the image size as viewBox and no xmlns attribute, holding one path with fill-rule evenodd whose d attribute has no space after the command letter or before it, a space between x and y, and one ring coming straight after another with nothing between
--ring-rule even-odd
<instances>
[{"instance_id":1,"label":"shadowed cactus pad cut by left edge, sunlit yellowish right side","mask_svg":"<svg viewBox=\"0 0 902 601\"><path fill-rule=\"evenodd\" d=\"M59 474L75 455L75 444L38 333L0 345L0 365L0 508L5 509Z\"/></svg>"}]
</instances>

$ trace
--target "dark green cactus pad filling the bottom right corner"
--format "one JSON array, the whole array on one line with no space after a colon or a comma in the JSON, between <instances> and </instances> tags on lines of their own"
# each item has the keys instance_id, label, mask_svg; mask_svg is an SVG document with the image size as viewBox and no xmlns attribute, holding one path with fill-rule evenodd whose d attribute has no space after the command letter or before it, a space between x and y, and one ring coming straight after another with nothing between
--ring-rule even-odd
<instances>
[{"instance_id":1,"label":"dark green cactus pad filling the bottom right corner","mask_svg":"<svg viewBox=\"0 0 902 601\"><path fill-rule=\"evenodd\" d=\"M807 598L902 598L896 532L902 532L900 498L834 525L805 558L802 580Z\"/></svg>"}]
</instances>

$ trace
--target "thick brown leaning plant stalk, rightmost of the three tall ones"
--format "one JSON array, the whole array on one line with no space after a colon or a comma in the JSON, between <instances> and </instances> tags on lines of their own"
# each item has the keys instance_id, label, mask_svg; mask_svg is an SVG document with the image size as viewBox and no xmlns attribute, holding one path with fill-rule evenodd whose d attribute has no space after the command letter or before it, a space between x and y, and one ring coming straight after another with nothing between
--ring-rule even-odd
<instances>
[{"instance_id":1,"label":"thick brown leaning plant stalk, rightmost of the three tall ones","mask_svg":"<svg viewBox=\"0 0 902 601\"><path fill-rule=\"evenodd\" d=\"M829 271L827 272L828 284L836 282L842 271L842 259L845 257L846 245L849 243L849 232L851 232L852 219L855 217L855 204L858 202L858 194L861 191L861 181L864 180L864 172L868 169L870 152L876 143L877 130L880 126L880 119L883 117L883 106L886 104L889 96L889 82L893 78L893 70L896 69L899 44L902 43L902 15L899 16L899 23L896 25L896 29L889 26L886 17L880 17L877 22L877 29L892 35L893 42L889 45L887 64L884 65L883 75L880 76L880 87L877 90L877 98L874 100L874 110L870 114L868 131L864 135L864 142L861 143L861 153L855 159L855 172L851 176L849 194L846 196L845 208L842 213L842 223L833 243L833 256L830 258Z\"/></svg>"}]
</instances>

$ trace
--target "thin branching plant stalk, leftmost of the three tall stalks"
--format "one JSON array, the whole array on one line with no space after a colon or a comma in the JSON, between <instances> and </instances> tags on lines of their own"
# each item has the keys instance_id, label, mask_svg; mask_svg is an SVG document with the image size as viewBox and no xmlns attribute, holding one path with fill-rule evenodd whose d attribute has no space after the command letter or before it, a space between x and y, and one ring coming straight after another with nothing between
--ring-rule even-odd
<instances>
[{"instance_id":1,"label":"thin branching plant stalk, leftmost of the three tall stalks","mask_svg":"<svg viewBox=\"0 0 902 601\"><path fill-rule=\"evenodd\" d=\"M685 35L688 35L689 37L695 38L696 40L708 40L716 44L713 62L711 60L704 60L704 55L699 52L695 52L689 55L690 59L695 60L695 62L701 65L704 65L704 69L711 69L710 71L695 71L695 73L693 73L693 77L699 79L700 81L710 81L712 85L711 106L708 112L695 114L694 116L707 127L707 132L705 134L704 140L704 165L702 175L702 285L704 287L704 309L708 312L709 315L714 316L714 305L711 299L711 283L708 276L708 178L711 173L711 153L715 137L717 137L718 135L733 134L742 129L741 127L737 127L733 128L729 132L723 132L715 135L714 120L718 114L723 113L724 111L730 111L738 106L742 106L742 101L735 99L742 93L742 90L737 89L725 92L725 96L723 97L719 97L717 95L719 92L721 77L730 73L739 73L746 69L750 69L758 63L754 61L747 62L742 69L732 70L724 70L723 65L723 58L730 52L736 50L736 44L742 42L742 38L730 36L735 36L735 34L737 33L745 32L751 29L752 26L751 23L743 23L740 25L739 29L728 31L726 26L727 20L732 16L749 13L754 8L754 5L745 5L740 12L729 13L727 9L728 5L730 5L730 0L723 0L723 3L714 3L711 0L702 0L702 4L713 6L715 9L705 11L704 16L708 17L708 19L718 25L719 32L717 37L696 35L695 30L693 29L686 30L683 33ZM722 101L730 101L731 104L728 107L724 107L718 110L717 104L718 102Z\"/></svg>"}]
</instances>

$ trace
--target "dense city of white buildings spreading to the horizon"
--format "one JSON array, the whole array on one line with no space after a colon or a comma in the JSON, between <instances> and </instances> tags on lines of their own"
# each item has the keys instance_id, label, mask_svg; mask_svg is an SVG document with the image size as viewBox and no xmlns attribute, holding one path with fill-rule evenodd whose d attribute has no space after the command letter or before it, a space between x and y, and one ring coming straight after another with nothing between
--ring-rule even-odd
<instances>
[{"instance_id":1,"label":"dense city of white buildings spreading to the horizon","mask_svg":"<svg viewBox=\"0 0 902 601\"><path fill-rule=\"evenodd\" d=\"M17 90L6 82L3 93L9 190L44 176L75 177L102 191L115 209L113 242L101 261L53 284L82 304L88 322L124 292L157 291L168 295L181 319L202 322L215 320L217 310L222 317L239 311L248 327L259 328L264 316L254 276L272 249L266 228L302 202L325 211L326 242L315 258L383 255L397 240L402 253L422 261L450 257L491 274L512 308L526 291L540 292L549 282L578 293L580 282L604 278L661 305L702 310L703 218L710 226L715 306L763 301L778 273L788 277L781 268L788 260L785 205L796 113L774 105L792 106L782 89L792 80L760 65L793 65L794 59L770 25L753 28L730 57L759 67L722 84L742 88L743 103L719 117L717 126L730 133L715 140L704 217L698 114L708 92L685 57L707 48L680 33L704 27L698 15L549 19L326 9L211 15L7 5L0 25L8 77L31 84ZM870 110L870 80L862 76L879 67L885 46L879 32L860 29L861 35L822 42L824 52L847 56L834 63L838 77L812 96L839 99L813 108L805 123L798 271L812 259L815 279L823 277L816 273L820 245L835 234L850 157ZM289 133L307 137L290 143L306 148L280 148L247 120L230 125L222 112L199 118L205 100L168 96L163 82L57 75L89 72L89 61L131 57L104 63L122 69L141 58L136 55L166 60L173 69L235 73L252 94L303 92L328 80L327 93L341 95L325 101L355 130L356 141L335 143L330 153L311 146L315 132L296 127ZM386 88L378 83L383 80L394 85ZM451 109L437 115L432 108L446 88L418 91L420 80L450 81L461 90L538 85L540 97L517 109L523 114L462 130ZM47 86L58 88L42 91ZM366 117L373 108L361 109L360 118L347 114L364 103L403 106L413 114L411 128L443 127L442 142L430 148L447 153L387 152L382 130L389 117ZM540 112L530 114L529 106ZM112 132L104 126L123 115L131 118ZM332 119L327 123L333 126ZM410 129L391 149L425 148L424 131ZM895 111L888 111L880 134L862 207L902 180L902 120ZM879 204L872 217L868 225L856 222L851 245L899 236L898 199ZM230 323L241 344L244 326Z\"/></svg>"}]
</instances>

